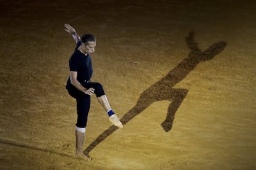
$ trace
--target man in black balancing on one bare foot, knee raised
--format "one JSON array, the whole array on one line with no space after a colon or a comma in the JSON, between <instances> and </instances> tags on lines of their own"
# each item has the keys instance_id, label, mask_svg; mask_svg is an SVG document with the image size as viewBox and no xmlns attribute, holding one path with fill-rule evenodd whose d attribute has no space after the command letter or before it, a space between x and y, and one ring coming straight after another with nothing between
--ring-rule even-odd
<instances>
[{"instance_id":1,"label":"man in black balancing on one bare foot, knee raised","mask_svg":"<svg viewBox=\"0 0 256 170\"><path fill-rule=\"evenodd\" d=\"M67 80L66 89L69 94L77 101L77 123L75 127L76 152L75 156L79 156L85 160L91 160L85 156L82 151L83 140L85 137L85 127L87 125L87 117L90 110L90 97L96 94L98 102L108 113L109 121L119 128L123 125L111 109L103 86L100 83L93 83L93 68L90 54L95 52L96 39L93 34L84 34L82 39L76 33L75 29L69 24L65 24L65 31L71 34L76 42L74 54L69 59L70 76Z\"/></svg>"}]
</instances>

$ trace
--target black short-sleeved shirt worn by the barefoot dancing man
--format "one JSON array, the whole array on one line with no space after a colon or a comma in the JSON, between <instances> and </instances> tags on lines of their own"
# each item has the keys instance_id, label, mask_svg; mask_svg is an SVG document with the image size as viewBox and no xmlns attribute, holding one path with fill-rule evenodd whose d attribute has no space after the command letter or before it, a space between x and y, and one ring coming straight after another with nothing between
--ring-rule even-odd
<instances>
[{"instance_id":1,"label":"black short-sleeved shirt worn by the barefoot dancing man","mask_svg":"<svg viewBox=\"0 0 256 170\"><path fill-rule=\"evenodd\" d=\"M69 70L77 71L77 81L83 83L85 80L92 78L93 68L90 55L85 55L78 50L78 47L81 45L81 43L81 41L77 42L75 52L69 59Z\"/></svg>"}]
</instances>

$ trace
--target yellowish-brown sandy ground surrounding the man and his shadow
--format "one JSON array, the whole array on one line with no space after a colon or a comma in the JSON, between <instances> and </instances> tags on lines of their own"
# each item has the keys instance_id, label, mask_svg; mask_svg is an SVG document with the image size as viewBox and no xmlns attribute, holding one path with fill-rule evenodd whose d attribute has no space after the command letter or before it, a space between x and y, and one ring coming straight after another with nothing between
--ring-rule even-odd
<instances>
[{"instance_id":1,"label":"yellowish-brown sandy ground surrounding the man and his shadow","mask_svg":"<svg viewBox=\"0 0 256 170\"><path fill-rule=\"evenodd\" d=\"M0 169L256 169L254 1L18 0L0 8ZM191 31L202 51L226 46L174 84L187 95L171 131L161 123L172 101L153 102L88 162L74 158L76 108L65 85L75 43L64 23L95 34L92 81L120 118L189 57ZM84 148L109 126L92 97Z\"/></svg>"}]
</instances>

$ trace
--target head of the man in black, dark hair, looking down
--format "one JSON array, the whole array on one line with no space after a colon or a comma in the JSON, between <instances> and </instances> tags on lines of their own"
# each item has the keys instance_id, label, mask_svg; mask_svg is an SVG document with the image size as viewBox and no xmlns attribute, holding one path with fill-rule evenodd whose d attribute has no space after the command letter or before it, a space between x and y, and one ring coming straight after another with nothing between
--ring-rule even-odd
<instances>
[{"instance_id":1,"label":"head of the man in black, dark hair, looking down","mask_svg":"<svg viewBox=\"0 0 256 170\"><path fill-rule=\"evenodd\" d=\"M96 46L96 39L93 34L84 34L82 36L82 42L83 42L83 51L85 51L88 54L92 54L95 52L95 46Z\"/></svg>"}]
</instances>

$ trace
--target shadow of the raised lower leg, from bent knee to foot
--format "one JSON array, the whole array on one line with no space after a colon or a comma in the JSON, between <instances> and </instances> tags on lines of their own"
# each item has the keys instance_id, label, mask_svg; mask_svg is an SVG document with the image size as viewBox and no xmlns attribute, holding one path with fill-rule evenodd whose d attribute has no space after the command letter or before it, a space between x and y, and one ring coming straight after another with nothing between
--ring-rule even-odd
<instances>
[{"instance_id":1,"label":"shadow of the raised lower leg, from bent knee to foot","mask_svg":"<svg viewBox=\"0 0 256 170\"><path fill-rule=\"evenodd\" d=\"M179 106L181 105L182 101L189 92L187 89L172 89L171 91L171 99L173 102L169 105L168 113L166 115L166 119L161 123L164 131L169 132L173 127L173 120L175 117L175 113Z\"/></svg>"}]
</instances>

